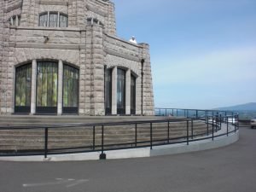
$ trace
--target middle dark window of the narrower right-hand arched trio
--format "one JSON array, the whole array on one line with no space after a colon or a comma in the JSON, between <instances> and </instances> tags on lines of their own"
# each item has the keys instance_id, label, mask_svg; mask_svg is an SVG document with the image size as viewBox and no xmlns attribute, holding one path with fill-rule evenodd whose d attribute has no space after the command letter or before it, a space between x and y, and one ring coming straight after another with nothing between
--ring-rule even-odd
<instances>
[{"instance_id":1,"label":"middle dark window of the narrower right-hand arched trio","mask_svg":"<svg viewBox=\"0 0 256 192\"><path fill-rule=\"evenodd\" d=\"M117 71L117 113L125 114L125 70Z\"/></svg>"}]
</instances>

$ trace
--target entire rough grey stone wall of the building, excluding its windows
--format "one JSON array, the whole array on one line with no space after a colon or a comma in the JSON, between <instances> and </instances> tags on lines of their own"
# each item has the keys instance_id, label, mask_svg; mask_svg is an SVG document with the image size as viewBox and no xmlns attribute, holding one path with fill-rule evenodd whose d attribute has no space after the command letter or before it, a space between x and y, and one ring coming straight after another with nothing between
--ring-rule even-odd
<instances>
[{"instance_id":1,"label":"entire rough grey stone wall of the building, excluding its windows","mask_svg":"<svg viewBox=\"0 0 256 192\"><path fill-rule=\"evenodd\" d=\"M136 113L154 114L148 44L131 44L115 35L113 3L102 0L21 0L0 2L0 108L15 108L15 67L32 61L62 61L79 68L79 114L104 115L104 66L121 67L136 79ZM22 12L19 6L22 5ZM9 11L9 12L8 12ZM68 27L38 26L39 14L68 14ZM84 13L86 13L84 15ZM20 26L9 17L21 15ZM101 20L88 25L86 17ZM142 59L143 73L142 102ZM129 109L128 109L129 110Z\"/></svg>"}]
</instances>

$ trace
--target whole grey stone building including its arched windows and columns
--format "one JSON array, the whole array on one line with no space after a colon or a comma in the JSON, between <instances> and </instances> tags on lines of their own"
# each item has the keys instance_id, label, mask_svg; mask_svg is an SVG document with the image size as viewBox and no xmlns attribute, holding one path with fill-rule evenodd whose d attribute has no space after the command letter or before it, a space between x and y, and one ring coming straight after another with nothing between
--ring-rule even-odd
<instances>
[{"instance_id":1,"label":"whole grey stone building including its arched windows and columns","mask_svg":"<svg viewBox=\"0 0 256 192\"><path fill-rule=\"evenodd\" d=\"M153 115L149 46L115 24L108 0L1 0L1 113Z\"/></svg>"}]
</instances>

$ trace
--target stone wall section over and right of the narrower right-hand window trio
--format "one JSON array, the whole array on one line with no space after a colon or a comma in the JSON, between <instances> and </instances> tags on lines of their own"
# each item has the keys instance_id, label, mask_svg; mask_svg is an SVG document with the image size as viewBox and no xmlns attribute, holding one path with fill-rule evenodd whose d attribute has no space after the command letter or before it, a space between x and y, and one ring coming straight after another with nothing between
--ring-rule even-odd
<instances>
[{"instance_id":1,"label":"stone wall section over and right of the narrower right-hand window trio","mask_svg":"<svg viewBox=\"0 0 256 192\"><path fill-rule=\"evenodd\" d=\"M107 67L122 67L131 69L136 77L136 113L142 114L141 102L143 99L143 114L154 115L154 93L151 76L151 63L148 44L131 44L114 36L105 35L104 63ZM143 98L142 98L142 63L143 64Z\"/></svg>"}]
</instances>

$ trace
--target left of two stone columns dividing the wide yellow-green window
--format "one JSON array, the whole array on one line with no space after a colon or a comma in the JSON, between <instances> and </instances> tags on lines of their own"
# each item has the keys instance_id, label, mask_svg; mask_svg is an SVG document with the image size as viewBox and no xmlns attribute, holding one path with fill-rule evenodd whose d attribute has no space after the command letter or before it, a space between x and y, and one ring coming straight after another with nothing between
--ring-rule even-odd
<instances>
[{"instance_id":1,"label":"left of two stone columns dividing the wide yellow-green window","mask_svg":"<svg viewBox=\"0 0 256 192\"><path fill-rule=\"evenodd\" d=\"M36 101L37 101L37 61L32 61L32 75L31 75L31 114L36 113Z\"/></svg>"}]
</instances>

